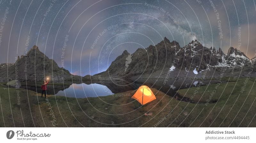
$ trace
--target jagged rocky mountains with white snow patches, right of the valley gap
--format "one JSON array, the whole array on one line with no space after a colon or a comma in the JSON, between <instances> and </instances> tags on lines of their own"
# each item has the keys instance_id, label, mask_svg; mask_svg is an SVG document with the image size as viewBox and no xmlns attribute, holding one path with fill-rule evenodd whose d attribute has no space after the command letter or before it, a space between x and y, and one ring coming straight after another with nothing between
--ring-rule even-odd
<instances>
[{"instance_id":1,"label":"jagged rocky mountains with white snow patches, right of the valley gap","mask_svg":"<svg viewBox=\"0 0 256 143\"><path fill-rule=\"evenodd\" d=\"M127 58L130 57L127 66ZM156 46L150 45L146 49L139 48L133 54L128 53L126 50L111 63L109 68L97 75L131 78L139 77L141 75L148 75L148 78L157 78L157 75L165 76L170 70L182 71L180 74L193 71L194 73L201 73L202 71L208 72L208 75L219 75L218 71L225 67L228 71L232 69L248 70L256 57L251 60L241 51L230 47L227 55L224 54L221 48L204 47L197 40L190 42L184 47L180 47L177 41L170 42L169 39L164 37L164 40ZM227 71L227 72L228 72ZM177 73L176 75L178 75ZM171 75L172 76L172 75Z\"/></svg>"}]
</instances>

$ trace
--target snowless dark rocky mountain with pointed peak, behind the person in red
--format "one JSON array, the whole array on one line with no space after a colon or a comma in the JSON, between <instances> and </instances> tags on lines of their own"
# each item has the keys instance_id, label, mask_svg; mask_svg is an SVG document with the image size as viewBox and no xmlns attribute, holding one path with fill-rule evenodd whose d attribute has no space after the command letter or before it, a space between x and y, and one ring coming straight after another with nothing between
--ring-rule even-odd
<instances>
[{"instance_id":1,"label":"snowless dark rocky mountain with pointed peak, behind the person in red","mask_svg":"<svg viewBox=\"0 0 256 143\"><path fill-rule=\"evenodd\" d=\"M60 68L54 60L40 52L37 46L33 46L25 56L18 56L15 63L0 64L0 82L7 82L7 77L9 81L17 79L21 82L41 82L44 77L50 77L54 82L71 81L72 78L81 81L81 76L71 75L68 70Z\"/></svg>"}]
</instances>

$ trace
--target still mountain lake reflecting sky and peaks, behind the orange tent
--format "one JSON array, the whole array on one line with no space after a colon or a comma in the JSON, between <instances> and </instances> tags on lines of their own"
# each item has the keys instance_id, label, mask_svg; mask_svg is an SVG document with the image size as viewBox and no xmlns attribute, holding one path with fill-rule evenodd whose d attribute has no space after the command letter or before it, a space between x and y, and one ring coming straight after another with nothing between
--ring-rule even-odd
<instances>
[{"instance_id":1,"label":"still mountain lake reflecting sky and peaks, behind the orange tent","mask_svg":"<svg viewBox=\"0 0 256 143\"><path fill-rule=\"evenodd\" d=\"M136 82L131 81L120 81L120 82L109 82L109 81L85 81L84 83L65 83L65 85L58 84L47 85L47 94L56 95L56 96L67 96L67 97L76 97L76 98L86 98L86 97L100 97L108 96L116 93L126 92L129 90L136 90L141 85L146 85L149 88L155 88L164 92L169 96L174 96L176 90L185 89L190 87L195 87L196 81L199 80L186 79L186 81L176 81L169 79L166 84L163 84L163 80L156 79L139 79ZM201 81L204 85L210 83L210 81ZM212 80L211 83L216 83L216 80ZM41 86L26 86L22 85L21 88L32 90L41 94Z\"/></svg>"}]
</instances>

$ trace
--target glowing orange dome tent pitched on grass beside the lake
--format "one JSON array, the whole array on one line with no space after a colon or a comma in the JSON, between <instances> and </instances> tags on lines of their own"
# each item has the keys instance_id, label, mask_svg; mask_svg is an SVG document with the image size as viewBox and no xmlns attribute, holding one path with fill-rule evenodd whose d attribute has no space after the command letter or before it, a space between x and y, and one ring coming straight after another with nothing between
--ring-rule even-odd
<instances>
[{"instance_id":1,"label":"glowing orange dome tent pitched on grass beside the lake","mask_svg":"<svg viewBox=\"0 0 256 143\"><path fill-rule=\"evenodd\" d=\"M154 95L152 90L146 85L140 86L139 89L132 96L132 98L140 102L140 104L142 105L156 100L156 96Z\"/></svg>"}]
</instances>

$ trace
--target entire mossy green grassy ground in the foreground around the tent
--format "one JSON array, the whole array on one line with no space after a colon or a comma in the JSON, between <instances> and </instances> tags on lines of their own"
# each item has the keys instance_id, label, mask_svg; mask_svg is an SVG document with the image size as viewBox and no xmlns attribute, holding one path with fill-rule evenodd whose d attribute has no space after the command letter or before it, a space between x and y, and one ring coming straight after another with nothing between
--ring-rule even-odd
<instances>
[{"instance_id":1,"label":"entire mossy green grassy ground in the foreground around the tent","mask_svg":"<svg viewBox=\"0 0 256 143\"><path fill-rule=\"evenodd\" d=\"M196 91L195 103L152 89L157 100L144 106L131 99L134 91L83 99L49 95L45 100L34 91L0 85L0 127L256 127L255 78L239 94L244 80L178 91L188 98Z\"/></svg>"}]
</instances>

